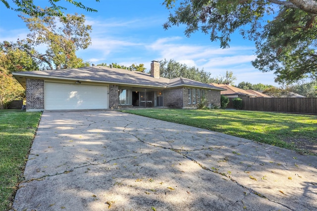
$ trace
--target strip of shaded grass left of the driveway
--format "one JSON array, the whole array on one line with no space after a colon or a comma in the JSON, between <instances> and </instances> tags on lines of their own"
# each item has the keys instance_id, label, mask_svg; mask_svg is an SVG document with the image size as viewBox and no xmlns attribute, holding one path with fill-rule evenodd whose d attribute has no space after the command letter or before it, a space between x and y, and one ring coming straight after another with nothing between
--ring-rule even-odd
<instances>
[{"instance_id":1,"label":"strip of shaded grass left of the driveway","mask_svg":"<svg viewBox=\"0 0 317 211\"><path fill-rule=\"evenodd\" d=\"M0 110L0 210L8 210L37 130L41 112Z\"/></svg>"}]
</instances>

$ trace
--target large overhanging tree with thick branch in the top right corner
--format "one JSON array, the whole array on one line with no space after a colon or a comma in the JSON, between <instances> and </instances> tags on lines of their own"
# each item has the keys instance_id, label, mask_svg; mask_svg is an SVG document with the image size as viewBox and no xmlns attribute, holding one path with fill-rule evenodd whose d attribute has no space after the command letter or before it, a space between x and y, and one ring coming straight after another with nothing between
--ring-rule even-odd
<instances>
[{"instance_id":1,"label":"large overhanging tree with thick branch in the top right corner","mask_svg":"<svg viewBox=\"0 0 317 211\"><path fill-rule=\"evenodd\" d=\"M317 1L316 0L165 0L170 13L165 29L185 24L185 35L201 30L211 41L229 47L237 30L255 41L261 71L274 71L276 82L316 78ZM177 5L177 6L175 6ZM274 18L274 10L278 8ZM268 20L269 19L269 20Z\"/></svg>"}]
</instances>

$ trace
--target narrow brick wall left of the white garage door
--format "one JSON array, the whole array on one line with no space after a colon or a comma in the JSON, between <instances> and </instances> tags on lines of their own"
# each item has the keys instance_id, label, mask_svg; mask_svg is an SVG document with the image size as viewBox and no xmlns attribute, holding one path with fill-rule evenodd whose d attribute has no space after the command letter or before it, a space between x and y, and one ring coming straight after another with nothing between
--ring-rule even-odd
<instances>
[{"instance_id":1,"label":"narrow brick wall left of the white garage door","mask_svg":"<svg viewBox=\"0 0 317 211\"><path fill-rule=\"evenodd\" d=\"M44 80L26 79L26 111L44 110Z\"/></svg>"}]
</instances>

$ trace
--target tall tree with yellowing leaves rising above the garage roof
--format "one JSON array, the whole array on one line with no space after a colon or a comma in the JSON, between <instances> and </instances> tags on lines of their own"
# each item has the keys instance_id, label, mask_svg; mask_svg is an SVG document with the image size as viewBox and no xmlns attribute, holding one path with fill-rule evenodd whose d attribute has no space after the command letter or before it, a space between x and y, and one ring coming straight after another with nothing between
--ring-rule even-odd
<instances>
[{"instance_id":1,"label":"tall tree with yellowing leaves rising above the garage roof","mask_svg":"<svg viewBox=\"0 0 317 211\"><path fill-rule=\"evenodd\" d=\"M92 28L85 25L84 15L65 17L23 17L20 16L31 33L27 39L18 41L18 46L42 64L44 69L78 68L87 66L76 56L76 50L86 49L91 44L89 32ZM36 46L46 45L45 53L35 50Z\"/></svg>"}]
</instances>

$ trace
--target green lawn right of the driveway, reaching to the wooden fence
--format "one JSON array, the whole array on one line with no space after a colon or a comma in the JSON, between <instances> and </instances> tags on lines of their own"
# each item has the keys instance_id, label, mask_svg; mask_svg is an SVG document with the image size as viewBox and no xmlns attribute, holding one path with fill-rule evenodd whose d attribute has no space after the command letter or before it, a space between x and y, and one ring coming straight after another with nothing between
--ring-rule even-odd
<instances>
[{"instance_id":1,"label":"green lawn right of the driveway, reaching to the wooden fence","mask_svg":"<svg viewBox=\"0 0 317 211\"><path fill-rule=\"evenodd\" d=\"M314 115L156 108L122 111L317 155L317 116Z\"/></svg>"}]
</instances>

